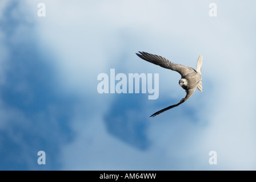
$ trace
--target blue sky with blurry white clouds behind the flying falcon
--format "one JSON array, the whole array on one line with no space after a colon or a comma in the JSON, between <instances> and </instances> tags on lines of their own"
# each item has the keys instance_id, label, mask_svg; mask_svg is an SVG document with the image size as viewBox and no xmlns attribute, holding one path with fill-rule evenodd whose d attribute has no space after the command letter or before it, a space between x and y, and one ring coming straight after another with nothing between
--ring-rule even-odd
<instances>
[{"instance_id":1,"label":"blue sky with blurry white clouds behind the flying falcon","mask_svg":"<svg viewBox=\"0 0 256 182\"><path fill-rule=\"evenodd\" d=\"M255 170L255 6L1 0L0 169ZM203 92L150 118L186 93L177 72L138 51L193 68L202 55ZM99 93L111 69L158 73L159 97Z\"/></svg>"}]
</instances>

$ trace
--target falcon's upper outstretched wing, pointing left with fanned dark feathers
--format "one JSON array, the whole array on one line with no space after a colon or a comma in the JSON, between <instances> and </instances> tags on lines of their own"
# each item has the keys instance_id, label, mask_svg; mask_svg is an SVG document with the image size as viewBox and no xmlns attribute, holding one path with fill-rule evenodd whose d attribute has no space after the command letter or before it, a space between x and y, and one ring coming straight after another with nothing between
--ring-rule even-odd
<instances>
[{"instance_id":1,"label":"falcon's upper outstretched wing, pointing left with fanned dark feathers","mask_svg":"<svg viewBox=\"0 0 256 182\"><path fill-rule=\"evenodd\" d=\"M162 57L162 56L152 55L151 53L140 52L140 51L139 53L136 53L136 54L137 56L141 57L141 59L146 60L150 63L159 65L160 67L163 67L163 68L171 69L173 71L177 71L179 74L181 74L181 76L184 76L187 73L194 71L194 69L191 67L186 67L185 65L182 65L182 64L175 64L165 59L165 57Z\"/></svg>"}]
</instances>

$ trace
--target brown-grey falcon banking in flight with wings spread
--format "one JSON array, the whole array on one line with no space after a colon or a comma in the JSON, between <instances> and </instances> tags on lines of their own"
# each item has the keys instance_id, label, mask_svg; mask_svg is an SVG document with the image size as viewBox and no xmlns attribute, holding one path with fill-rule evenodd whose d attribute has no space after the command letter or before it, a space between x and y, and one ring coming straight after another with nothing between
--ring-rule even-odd
<instances>
[{"instance_id":1,"label":"brown-grey falcon banking in flight with wings spread","mask_svg":"<svg viewBox=\"0 0 256 182\"><path fill-rule=\"evenodd\" d=\"M201 71L202 71L202 64L203 64L203 56L199 56L197 60L197 70L195 71L194 68L187 67L182 64L175 64L171 61L165 59L165 57L158 56L158 55L152 55L151 53L147 52L140 52L136 53L137 56L141 57L141 59L146 60L150 63L159 65L160 67L171 69L173 71L177 71L179 74L181 74L181 80L179 80L179 85L186 91L186 97L182 98L181 101L179 101L178 104L171 105L169 107L166 107L165 109L159 110L156 113L152 114L150 117L155 117L158 114L163 113L166 110L169 110L173 107L177 107L178 105L181 105L183 102L189 99L190 96L195 92L195 89L198 88L201 92L203 92L202 87L202 77L201 77Z\"/></svg>"}]
</instances>

